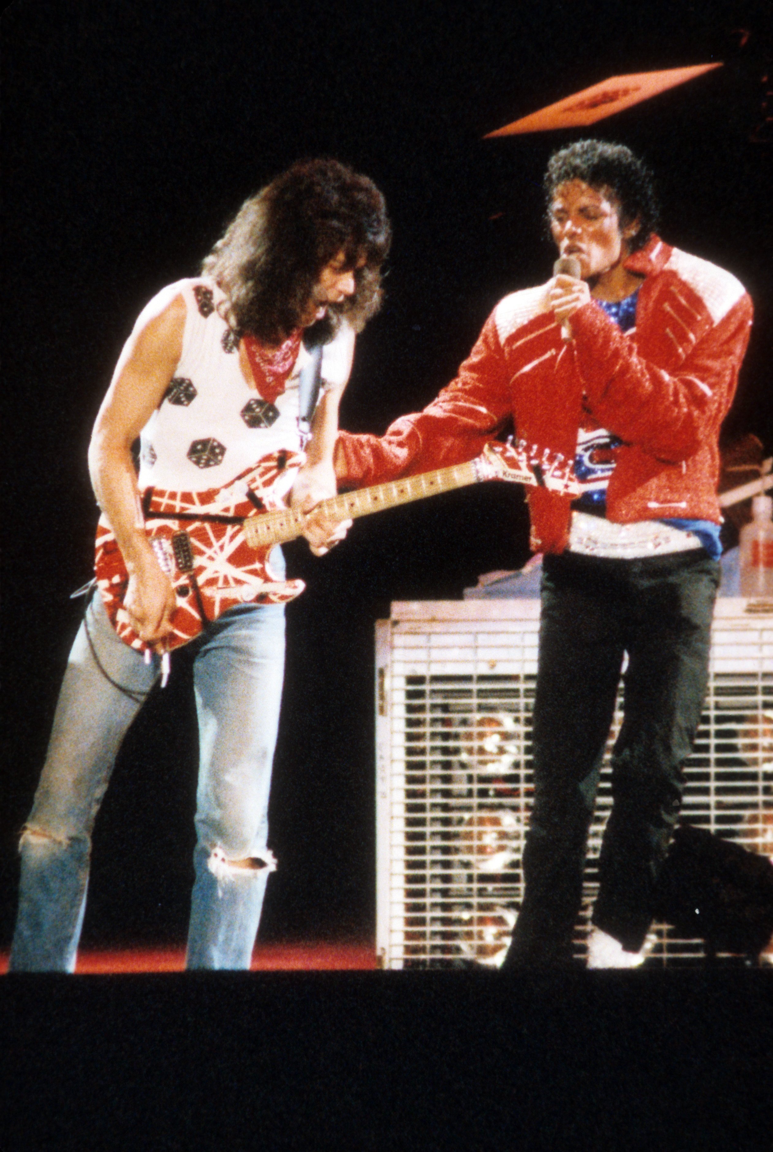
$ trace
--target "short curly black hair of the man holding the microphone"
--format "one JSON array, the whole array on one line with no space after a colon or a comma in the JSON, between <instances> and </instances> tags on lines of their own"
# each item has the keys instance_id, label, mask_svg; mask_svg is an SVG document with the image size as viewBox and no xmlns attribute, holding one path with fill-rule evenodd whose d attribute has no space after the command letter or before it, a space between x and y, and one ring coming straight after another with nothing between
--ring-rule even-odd
<instances>
[{"instance_id":1,"label":"short curly black hair of the man holding the microphone","mask_svg":"<svg viewBox=\"0 0 773 1152\"><path fill-rule=\"evenodd\" d=\"M624 144L606 141L577 141L559 149L547 161L543 182L548 218L556 189L570 180L582 180L591 188L611 192L620 205L621 225L638 219L638 228L629 238L630 250L644 248L658 227L660 205L653 175L643 160Z\"/></svg>"}]
</instances>

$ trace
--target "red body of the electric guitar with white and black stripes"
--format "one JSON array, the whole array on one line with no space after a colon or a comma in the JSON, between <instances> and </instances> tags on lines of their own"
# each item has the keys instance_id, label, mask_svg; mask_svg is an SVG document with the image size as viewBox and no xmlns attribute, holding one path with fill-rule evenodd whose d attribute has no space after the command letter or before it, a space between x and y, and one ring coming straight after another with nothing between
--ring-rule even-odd
<instances>
[{"instance_id":1,"label":"red body of the electric guitar with white and black stripes","mask_svg":"<svg viewBox=\"0 0 773 1152\"><path fill-rule=\"evenodd\" d=\"M302 462L297 453L279 452L223 488L145 491L145 530L177 597L167 649L187 644L228 608L283 604L303 591L303 581L283 581L272 571L268 555L273 544L251 547L242 531L247 517L285 507L282 497ZM118 635L130 647L144 651L149 645L137 636L123 607L129 577L104 515L97 526L94 574Z\"/></svg>"}]
</instances>

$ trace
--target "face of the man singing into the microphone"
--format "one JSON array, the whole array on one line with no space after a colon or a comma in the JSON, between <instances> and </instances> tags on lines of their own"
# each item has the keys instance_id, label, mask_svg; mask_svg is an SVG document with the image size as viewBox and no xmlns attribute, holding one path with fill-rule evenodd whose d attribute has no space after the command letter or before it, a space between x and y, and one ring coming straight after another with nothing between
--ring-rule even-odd
<instances>
[{"instance_id":1,"label":"face of the man singing into the microphone","mask_svg":"<svg viewBox=\"0 0 773 1152\"><path fill-rule=\"evenodd\" d=\"M579 260L583 280L611 272L629 255L616 203L582 180L560 184L551 204L551 234L561 256Z\"/></svg>"}]
</instances>

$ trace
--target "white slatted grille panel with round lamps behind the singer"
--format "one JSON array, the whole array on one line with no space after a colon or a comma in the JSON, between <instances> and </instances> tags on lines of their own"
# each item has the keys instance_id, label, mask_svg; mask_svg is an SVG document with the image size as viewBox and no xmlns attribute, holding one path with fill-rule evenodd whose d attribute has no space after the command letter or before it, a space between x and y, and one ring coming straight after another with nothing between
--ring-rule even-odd
<instances>
[{"instance_id":1,"label":"white slatted grille panel with round lamps behind the singer","mask_svg":"<svg viewBox=\"0 0 773 1152\"><path fill-rule=\"evenodd\" d=\"M773 855L773 620L719 601L710 688L683 814ZM377 935L388 968L501 961L522 896L531 797L538 604L393 605L377 630ZM576 952L611 806L607 745ZM695 963L699 941L655 927L650 964Z\"/></svg>"}]
</instances>

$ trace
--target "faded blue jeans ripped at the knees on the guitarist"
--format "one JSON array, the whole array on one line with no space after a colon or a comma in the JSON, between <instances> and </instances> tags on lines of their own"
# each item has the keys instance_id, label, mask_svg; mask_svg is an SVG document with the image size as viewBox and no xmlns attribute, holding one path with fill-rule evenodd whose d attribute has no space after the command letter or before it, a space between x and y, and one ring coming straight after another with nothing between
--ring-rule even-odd
<instances>
[{"instance_id":1,"label":"faded blue jeans ripped at the knees on the guitarist","mask_svg":"<svg viewBox=\"0 0 773 1152\"><path fill-rule=\"evenodd\" d=\"M232 608L192 644L199 771L187 967L248 969L274 867L266 839L283 606ZM119 639L94 596L69 655L21 838L10 971L75 969L94 819L121 741L158 674L157 659L145 664Z\"/></svg>"}]
</instances>

